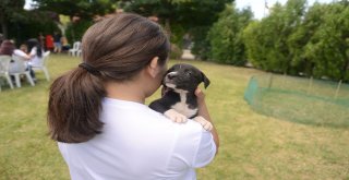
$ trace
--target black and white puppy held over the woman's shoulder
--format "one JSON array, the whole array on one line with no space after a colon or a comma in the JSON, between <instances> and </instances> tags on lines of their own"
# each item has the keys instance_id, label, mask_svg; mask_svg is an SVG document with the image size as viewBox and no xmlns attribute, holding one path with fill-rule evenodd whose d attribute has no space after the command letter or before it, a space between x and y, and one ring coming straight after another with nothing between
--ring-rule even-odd
<instances>
[{"instance_id":1,"label":"black and white puppy held over the woman's shoulder","mask_svg":"<svg viewBox=\"0 0 349 180\"><path fill-rule=\"evenodd\" d=\"M209 85L207 76L197 68L184 63L174 64L163 80L163 97L151 103L149 107L174 122L193 119L210 131L212 123L197 116L195 89L202 82L205 88Z\"/></svg>"}]
</instances>

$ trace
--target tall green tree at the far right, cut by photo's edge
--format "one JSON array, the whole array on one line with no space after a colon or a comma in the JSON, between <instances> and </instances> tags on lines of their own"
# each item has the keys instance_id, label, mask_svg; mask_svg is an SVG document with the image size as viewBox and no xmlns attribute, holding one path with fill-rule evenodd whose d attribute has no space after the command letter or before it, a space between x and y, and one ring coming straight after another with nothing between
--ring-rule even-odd
<instances>
[{"instance_id":1,"label":"tall green tree at the far right, cut by photo's edge","mask_svg":"<svg viewBox=\"0 0 349 180\"><path fill-rule=\"evenodd\" d=\"M314 65L314 75L333 80L349 80L349 5L348 1L333 2L322 14L323 23L305 47Z\"/></svg>"}]
</instances>

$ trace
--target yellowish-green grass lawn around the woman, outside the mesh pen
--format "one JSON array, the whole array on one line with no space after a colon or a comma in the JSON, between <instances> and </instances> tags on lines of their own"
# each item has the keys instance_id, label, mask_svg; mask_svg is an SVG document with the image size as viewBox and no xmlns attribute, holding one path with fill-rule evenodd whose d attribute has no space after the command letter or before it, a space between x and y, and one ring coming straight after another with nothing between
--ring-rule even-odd
<instances>
[{"instance_id":1,"label":"yellowish-green grass lawn around the woman, outside the mesh pen","mask_svg":"<svg viewBox=\"0 0 349 180\"><path fill-rule=\"evenodd\" d=\"M180 61L171 61L176 63ZM263 72L201 61L181 61L210 79L205 91L220 135L214 163L197 170L200 180L347 179L349 129L281 121L251 110L243 99L249 79ZM77 58L52 55L52 79L76 67ZM47 135L46 107L50 83L38 72L35 87L23 83L0 92L0 179L69 179L56 142ZM159 97L155 94L154 98Z\"/></svg>"}]
</instances>

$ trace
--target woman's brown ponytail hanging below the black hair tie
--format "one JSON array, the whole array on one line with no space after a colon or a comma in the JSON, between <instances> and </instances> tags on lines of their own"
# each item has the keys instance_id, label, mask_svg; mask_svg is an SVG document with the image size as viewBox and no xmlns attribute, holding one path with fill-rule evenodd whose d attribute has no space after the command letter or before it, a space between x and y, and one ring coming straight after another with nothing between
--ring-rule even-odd
<instances>
[{"instance_id":1,"label":"woman's brown ponytail hanging below the black hair tie","mask_svg":"<svg viewBox=\"0 0 349 180\"><path fill-rule=\"evenodd\" d=\"M47 121L52 140L86 142L101 132L103 81L76 68L58 77L50 86Z\"/></svg>"}]
</instances>

